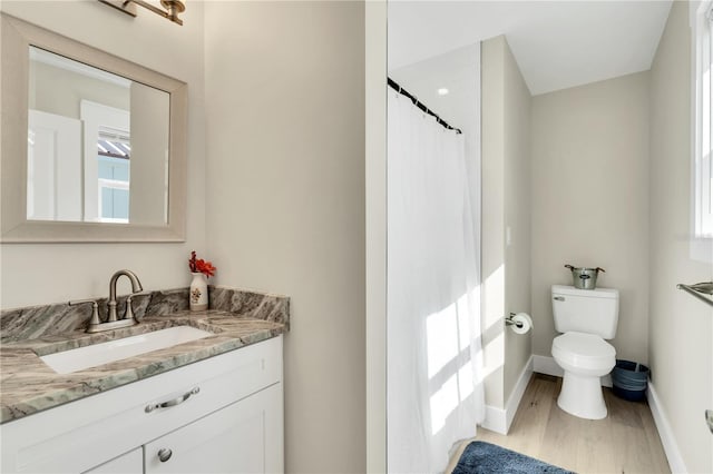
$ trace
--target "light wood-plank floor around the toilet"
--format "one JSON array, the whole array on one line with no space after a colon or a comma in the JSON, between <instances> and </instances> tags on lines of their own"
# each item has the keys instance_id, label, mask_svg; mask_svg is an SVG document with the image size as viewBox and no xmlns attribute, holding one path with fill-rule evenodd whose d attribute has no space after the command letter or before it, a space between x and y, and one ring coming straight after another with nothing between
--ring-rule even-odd
<instances>
[{"instance_id":1,"label":"light wood-plank floor around the toilet","mask_svg":"<svg viewBox=\"0 0 713 474\"><path fill-rule=\"evenodd\" d=\"M582 419L557 406L561 378L533 374L507 436L478 428L476 440L576 473L671 473L646 402L627 402L604 388L608 416ZM455 453L450 473L468 443Z\"/></svg>"}]
</instances>

